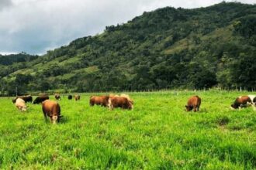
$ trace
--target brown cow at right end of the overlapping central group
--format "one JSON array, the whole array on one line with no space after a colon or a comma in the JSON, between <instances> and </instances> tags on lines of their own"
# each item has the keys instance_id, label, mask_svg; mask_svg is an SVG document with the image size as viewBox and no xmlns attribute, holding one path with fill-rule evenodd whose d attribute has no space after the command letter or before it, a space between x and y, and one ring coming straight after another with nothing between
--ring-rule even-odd
<instances>
[{"instance_id":1,"label":"brown cow at right end of the overlapping central group","mask_svg":"<svg viewBox=\"0 0 256 170\"><path fill-rule=\"evenodd\" d=\"M128 100L126 97L109 97L109 109L112 110L116 107L123 109L133 109L133 102Z\"/></svg>"}]
</instances>

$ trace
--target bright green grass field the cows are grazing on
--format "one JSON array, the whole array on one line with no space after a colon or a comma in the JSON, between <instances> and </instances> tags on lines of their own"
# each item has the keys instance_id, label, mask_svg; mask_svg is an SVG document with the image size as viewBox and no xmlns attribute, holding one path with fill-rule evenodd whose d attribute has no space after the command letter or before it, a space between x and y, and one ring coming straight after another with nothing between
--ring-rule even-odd
<instances>
[{"instance_id":1,"label":"bright green grass field the cows are grazing on","mask_svg":"<svg viewBox=\"0 0 256 170\"><path fill-rule=\"evenodd\" d=\"M247 92L129 94L133 110L89 107L91 93L77 102L65 97L56 125L45 123L41 105L22 113L12 98L0 98L0 168L256 168L256 111L229 108ZM193 94L201 110L185 112Z\"/></svg>"}]
</instances>

